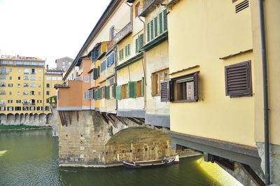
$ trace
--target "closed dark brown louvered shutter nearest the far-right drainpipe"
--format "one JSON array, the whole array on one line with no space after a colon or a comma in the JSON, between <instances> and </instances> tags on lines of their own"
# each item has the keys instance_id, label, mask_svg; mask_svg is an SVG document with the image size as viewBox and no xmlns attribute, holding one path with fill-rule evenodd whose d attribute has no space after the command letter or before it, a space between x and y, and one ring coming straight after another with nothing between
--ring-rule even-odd
<instances>
[{"instance_id":1,"label":"closed dark brown louvered shutter nearest the far-right drainpipe","mask_svg":"<svg viewBox=\"0 0 280 186\"><path fill-rule=\"evenodd\" d=\"M251 61L225 66L225 95L252 96Z\"/></svg>"}]
</instances>

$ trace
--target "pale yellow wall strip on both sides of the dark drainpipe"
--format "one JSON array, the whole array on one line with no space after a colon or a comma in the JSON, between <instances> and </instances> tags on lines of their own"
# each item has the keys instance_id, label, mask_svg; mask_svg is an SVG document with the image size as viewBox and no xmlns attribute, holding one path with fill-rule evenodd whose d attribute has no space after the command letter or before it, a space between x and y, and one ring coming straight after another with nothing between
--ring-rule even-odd
<instances>
[{"instance_id":1,"label":"pale yellow wall strip on both sides of the dark drainpipe","mask_svg":"<svg viewBox=\"0 0 280 186\"><path fill-rule=\"evenodd\" d=\"M260 18L258 1L250 1L252 11L253 50L255 58L255 141L264 142L264 117L262 94L262 59L260 48ZM265 3L265 25L267 39L267 69L269 85L270 143L280 145L280 1Z\"/></svg>"}]
</instances>

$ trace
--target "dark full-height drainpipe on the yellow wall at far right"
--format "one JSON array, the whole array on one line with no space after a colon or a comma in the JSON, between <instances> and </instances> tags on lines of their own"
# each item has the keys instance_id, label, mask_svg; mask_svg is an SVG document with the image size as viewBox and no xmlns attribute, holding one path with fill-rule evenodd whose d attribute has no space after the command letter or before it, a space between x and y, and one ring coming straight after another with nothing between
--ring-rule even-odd
<instances>
[{"instance_id":1,"label":"dark full-height drainpipe on the yellow wall at far right","mask_svg":"<svg viewBox=\"0 0 280 186\"><path fill-rule=\"evenodd\" d=\"M265 184L270 185L270 164L269 164L269 108L268 108L268 85L267 85L267 48L265 41L265 13L264 1L259 0L260 12L260 41L262 48L262 84L263 84L263 105L265 122Z\"/></svg>"}]
</instances>

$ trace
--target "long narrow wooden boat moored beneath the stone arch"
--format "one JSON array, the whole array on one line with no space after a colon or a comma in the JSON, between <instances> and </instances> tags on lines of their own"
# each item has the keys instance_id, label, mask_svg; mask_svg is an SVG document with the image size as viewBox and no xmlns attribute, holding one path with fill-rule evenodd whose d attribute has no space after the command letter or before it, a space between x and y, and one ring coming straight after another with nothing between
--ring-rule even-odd
<instances>
[{"instance_id":1,"label":"long narrow wooden boat moored beneath the stone arch","mask_svg":"<svg viewBox=\"0 0 280 186\"><path fill-rule=\"evenodd\" d=\"M170 157L167 159L153 159L153 160L138 161L138 162L123 162L123 165L128 168L167 166L169 164L173 164L175 159L176 157Z\"/></svg>"}]
</instances>

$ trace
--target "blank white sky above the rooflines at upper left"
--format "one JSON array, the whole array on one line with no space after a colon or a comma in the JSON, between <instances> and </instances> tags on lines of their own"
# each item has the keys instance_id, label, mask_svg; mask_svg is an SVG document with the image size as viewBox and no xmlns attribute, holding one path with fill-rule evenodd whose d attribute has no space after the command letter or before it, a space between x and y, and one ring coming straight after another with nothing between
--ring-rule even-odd
<instances>
[{"instance_id":1,"label":"blank white sky above the rooflines at upper left","mask_svg":"<svg viewBox=\"0 0 280 186\"><path fill-rule=\"evenodd\" d=\"M110 0L0 0L0 55L75 59Z\"/></svg>"}]
</instances>

